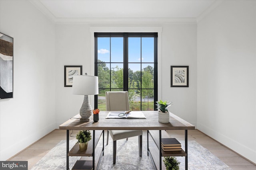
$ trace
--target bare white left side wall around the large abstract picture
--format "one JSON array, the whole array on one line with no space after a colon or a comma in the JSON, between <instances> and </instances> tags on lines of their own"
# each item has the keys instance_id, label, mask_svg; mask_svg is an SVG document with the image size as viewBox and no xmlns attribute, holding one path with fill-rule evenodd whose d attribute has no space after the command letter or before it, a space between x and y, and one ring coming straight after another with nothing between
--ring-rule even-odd
<instances>
[{"instance_id":1,"label":"bare white left side wall around the large abstract picture","mask_svg":"<svg viewBox=\"0 0 256 170\"><path fill-rule=\"evenodd\" d=\"M55 128L55 29L29 1L0 1L0 32L14 38L14 98L0 100L0 160Z\"/></svg>"}]
</instances>

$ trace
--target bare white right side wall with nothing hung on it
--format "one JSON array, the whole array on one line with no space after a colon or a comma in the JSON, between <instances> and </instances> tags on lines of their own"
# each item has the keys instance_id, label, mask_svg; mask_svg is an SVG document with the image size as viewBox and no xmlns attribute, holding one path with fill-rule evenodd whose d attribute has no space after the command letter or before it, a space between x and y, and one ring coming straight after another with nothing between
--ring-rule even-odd
<instances>
[{"instance_id":1,"label":"bare white right side wall with nothing hung on it","mask_svg":"<svg viewBox=\"0 0 256 170\"><path fill-rule=\"evenodd\" d=\"M197 33L197 127L256 163L256 1L223 1Z\"/></svg>"}]
</instances>

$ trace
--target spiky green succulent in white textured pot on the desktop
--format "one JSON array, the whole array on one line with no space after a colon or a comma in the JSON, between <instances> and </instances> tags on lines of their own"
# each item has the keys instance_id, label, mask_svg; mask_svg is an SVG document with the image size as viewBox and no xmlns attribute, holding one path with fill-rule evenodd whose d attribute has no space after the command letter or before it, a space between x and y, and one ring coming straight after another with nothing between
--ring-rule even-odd
<instances>
[{"instance_id":1,"label":"spiky green succulent in white textured pot on the desktop","mask_svg":"<svg viewBox=\"0 0 256 170\"><path fill-rule=\"evenodd\" d=\"M156 106L158 111L158 121L160 123L169 123L169 111L168 107L172 105L172 102L167 101L157 101Z\"/></svg>"}]
</instances>

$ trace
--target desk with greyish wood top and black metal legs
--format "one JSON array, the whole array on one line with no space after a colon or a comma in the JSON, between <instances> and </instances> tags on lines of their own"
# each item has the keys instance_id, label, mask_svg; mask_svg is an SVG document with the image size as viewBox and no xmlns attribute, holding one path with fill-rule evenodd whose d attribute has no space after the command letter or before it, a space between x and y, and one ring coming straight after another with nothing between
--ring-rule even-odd
<instances>
[{"instance_id":1,"label":"desk with greyish wood top and black metal legs","mask_svg":"<svg viewBox=\"0 0 256 170\"><path fill-rule=\"evenodd\" d=\"M69 119L65 123L59 126L59 129L67 130L67 170L68 170L68 141L69 141L69 130L92 130L93 134L95 134L95 130L158 130L159 131L159 141L161 144L161 130L185 130L185 152L188 153L187 149L187 131L190 129L195 129L194 125L188 123L187 121L181 119L180 117L170 113L170 123L159 123L158 122L158 111L142 111L146 116L146 119L106 119L106 115L109 111L100 111L99 113L99 121L94 122L93 119L90 119L89 122L80 122L78 119ZM76 115L75 117L80 117L80 115ZM92 117L91 117L92 118ZM93 146L94 143L94 135L93 135ZM161 164L161 146L159 148L159 169L162 169ZM93 147L93 169L95 169L94 165L94 154L95 148ZM148 152L149 149L148 149ZM104 147L103 147L104 154ZM100 160L99 160L100 162ZM186 170L188 169L188 156L185 157Z\"/></svg>"}]
</instances>

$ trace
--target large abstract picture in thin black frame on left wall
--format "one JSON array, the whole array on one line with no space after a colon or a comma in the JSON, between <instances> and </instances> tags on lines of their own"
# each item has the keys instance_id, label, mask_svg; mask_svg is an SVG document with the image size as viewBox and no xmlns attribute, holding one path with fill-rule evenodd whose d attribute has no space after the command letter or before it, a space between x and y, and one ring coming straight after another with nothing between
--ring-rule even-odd
<instances>
[{"instance_id":1,"label":"large abstract picture in thin black frame on left wall","mask_svg":"<svg viewBox=\"0 0 256 170\"><path fill-rule=\"evenodd\" d=\"M13 38L0 33L0 99L13 98Z\"/></svg>"}]
</instances>

